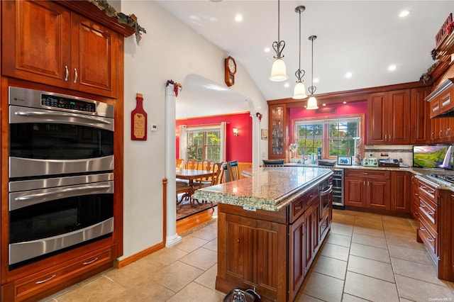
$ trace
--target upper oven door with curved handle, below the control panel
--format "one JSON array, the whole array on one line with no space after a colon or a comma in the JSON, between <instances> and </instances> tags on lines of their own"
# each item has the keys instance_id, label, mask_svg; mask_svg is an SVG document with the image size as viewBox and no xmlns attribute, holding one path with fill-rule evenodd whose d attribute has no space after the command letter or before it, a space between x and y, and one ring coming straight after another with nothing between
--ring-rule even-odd
<instances>
[{"instance_id":1,"label":"upper oven door with curved handle, below the control panel","mask_svg":"<svg viewBox=\"0 0 454 302\"><path fill-rule=\"evenodd\" d=\"M114 119L9 106L9 177L114 169Z\"/></svg>"}]
</instances>

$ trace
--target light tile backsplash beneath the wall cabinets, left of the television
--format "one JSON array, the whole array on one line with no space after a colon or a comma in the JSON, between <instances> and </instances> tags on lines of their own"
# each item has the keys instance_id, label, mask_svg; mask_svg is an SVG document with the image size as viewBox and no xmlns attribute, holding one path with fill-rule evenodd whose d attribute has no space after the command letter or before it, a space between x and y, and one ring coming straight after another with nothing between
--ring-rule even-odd
<instances>
[{"instance_id":1,"label":"light tile backsplash beneath the wall cabinets, left of the television","mask_svg":"<svg viewBox=\"0 0 454 302\"><path fill-rule=\"evenodd\" d=\"M412 145L366 145L364 147L364 157L377 157L378 160L393 159L400 160L409 167L413 166L413 146Z\"/></svg>"}]
</instances>

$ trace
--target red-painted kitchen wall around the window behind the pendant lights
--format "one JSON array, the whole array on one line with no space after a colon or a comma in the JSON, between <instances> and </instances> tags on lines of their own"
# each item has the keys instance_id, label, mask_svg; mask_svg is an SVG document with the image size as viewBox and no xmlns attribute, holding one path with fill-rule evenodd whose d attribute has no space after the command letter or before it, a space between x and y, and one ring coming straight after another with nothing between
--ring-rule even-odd
<instances>
[{"instance_id":1,"label":"red-painted kitchen wall around the window behind the pendant lights","mask_svg":"<svg viewBox=\"0 0 454 302\"><path fill-rule=\"evenodd\" d=\"M316 114L315 110L307 110L306 108L292 108L290 109L289 121L295 118L336 118L336 116L347 116L350 114L364 113L364 125L367 125L367 101L355 101L347 104L334 104L328 106L319 106L319 108L336 108L336 113ZM289 125L289 135L292 138L292 125ZM367 142L367 127L365 126L365 141Z\"/></svg>"}]
</instances>

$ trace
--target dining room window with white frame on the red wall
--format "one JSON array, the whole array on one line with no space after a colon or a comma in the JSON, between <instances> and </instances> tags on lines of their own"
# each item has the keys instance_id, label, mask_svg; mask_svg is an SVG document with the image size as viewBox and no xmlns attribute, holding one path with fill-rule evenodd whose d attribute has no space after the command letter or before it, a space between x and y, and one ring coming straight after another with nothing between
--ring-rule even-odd
<instances>
[{"instance_id":1,"label":"dining room window with white frame on the red wall","mask_svg":"<svg viewBox=\"0 0 454 302\"><path fill-rule=\"evenodd\" d=\"M221 161L221 129L187 129L187 159Z\"/></svg>"}]
</instances>

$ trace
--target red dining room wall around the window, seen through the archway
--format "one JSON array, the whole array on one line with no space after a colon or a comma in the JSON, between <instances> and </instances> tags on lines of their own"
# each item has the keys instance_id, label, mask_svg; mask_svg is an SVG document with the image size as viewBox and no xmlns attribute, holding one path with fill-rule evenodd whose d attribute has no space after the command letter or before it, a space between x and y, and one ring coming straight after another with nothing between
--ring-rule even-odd
<instances>
[{"instance_id":1,"label":"red dining room wall around the window, seen through the archway","mask_svg":"<svg viewBox=\"0 0 454 302\"><path fill-rule=\"evenodd\" d=\"M228 116L211 116L209 118L189 118L177 120L179 125L210 125L227 122L226 127L226 160L253 162L253 121L249 113L231 114ZM238 137L233 135L233 128L238 128ZM176 157L179 158L179 135L177 135Z\"/></svg>"}]
</instances>

